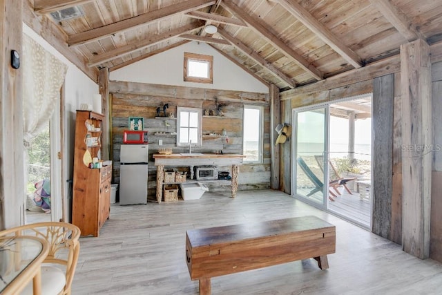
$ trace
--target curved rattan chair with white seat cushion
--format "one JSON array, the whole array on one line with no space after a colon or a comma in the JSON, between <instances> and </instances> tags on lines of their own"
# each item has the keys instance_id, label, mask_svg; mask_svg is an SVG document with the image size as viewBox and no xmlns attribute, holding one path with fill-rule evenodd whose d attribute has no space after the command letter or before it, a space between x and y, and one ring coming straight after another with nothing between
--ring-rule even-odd
<instances>
[{"instance_id":1,"label":"curved rattan chair with white seat cushion","mask_svg":"<svg viewBox=\"0 0 442 295\"><path fill-rule=\"evenodd\" d=\"M36 236L46 240L49 253L41 265L41 294L70 294L80 250L78 227L66 222L37 222L6 229L0 236ZM32 294L32 283L21 294Z\"/></svg>"}]
</instances>

